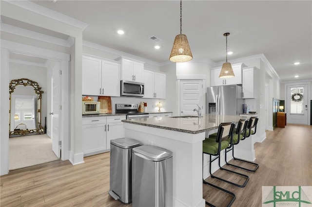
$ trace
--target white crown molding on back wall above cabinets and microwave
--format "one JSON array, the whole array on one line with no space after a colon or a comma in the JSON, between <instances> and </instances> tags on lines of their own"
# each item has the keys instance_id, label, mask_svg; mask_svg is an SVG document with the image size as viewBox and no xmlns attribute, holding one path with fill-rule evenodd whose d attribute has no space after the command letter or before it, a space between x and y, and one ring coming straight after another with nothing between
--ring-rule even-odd
<instances>
[{"instance_id":1,"label":"white crown molding on back wall above cabinets and microwave","mask_svg":"<svg viewBox=\"0 0 312 207\"><path fill-rule=\"evenodd\" d=\"M127 58L136 59L138 61L142 61L144 63L148 63L148 64L155 65L155 66L158 66L158 67L161 66L158 62L155 62L155 61L152 61L152 60L149 60L149 59L145 59L145 58L142 58L142 57L139 57L139 56L127 53L127 52L122 52L122 51L118 51L118 50L115 50L115 49L112 49L112 48L108 48L108 47L105 47L103 45L99 45L99 44L96 44L96 43L93 43L93 42L89 42L89 41L86 41L86 40L82 40L82 45L86 46L86 47L89 47L89 48L97 49L99 51L110 52L112 54L116 54L118 56L117 58L119 58L120 56L124 56L124 57L127 57Z\"/></svg>"}]
</instances>

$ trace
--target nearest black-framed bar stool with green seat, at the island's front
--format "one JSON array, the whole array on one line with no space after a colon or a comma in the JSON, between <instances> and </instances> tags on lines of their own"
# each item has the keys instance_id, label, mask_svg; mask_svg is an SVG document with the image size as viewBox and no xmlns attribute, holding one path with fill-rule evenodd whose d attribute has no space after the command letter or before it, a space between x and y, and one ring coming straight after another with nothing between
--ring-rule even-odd
<instances>
[{"instance_id":1,"label":"nearest black-framed bar stool with green seat, at the island's front","mask_svg":"<svg viewBox=\"0 0 312 207\"><path fill-rule=\"evenodd\" d=\"M218 132L217 132L217 136L216 139L209 139L206 138L203 141L203 165L204 165L204 154L208 154L210 156L210 161L209 161L209 173L210 175L213 177L212 173L211 173L211 163L213 161L215 161L216 159L219 158L220 152L221 150L224 150L225 148L227 148L230 145L230 142L228 142L228 138L233 139L233 130L234 130L235 124L234 121L232 122L227 122L227 123L220 123L219 128L218 128ZM231 141L232 142L232 141ZM216 156L214 159L212 159L212 155ZM220 159L219 159L220 160ZM215 176L214 176L215 177ZM221 178L220 178L221 179ZM222 179L223 180L223 179ZM220 188L218 186L215 186L212 183L208 183L205 181L204 179L204 175L203 175L203 184L206 185L210 185L218 190L222 190L230 195L232 195L232 199L231 201L228 203L227 207L230 207L236 196L233 192L229 191L229 190L225 190L223 188ZM205 203L211 207L215 207L213 204L205 201Z\"/></svg>"}]
</instances>

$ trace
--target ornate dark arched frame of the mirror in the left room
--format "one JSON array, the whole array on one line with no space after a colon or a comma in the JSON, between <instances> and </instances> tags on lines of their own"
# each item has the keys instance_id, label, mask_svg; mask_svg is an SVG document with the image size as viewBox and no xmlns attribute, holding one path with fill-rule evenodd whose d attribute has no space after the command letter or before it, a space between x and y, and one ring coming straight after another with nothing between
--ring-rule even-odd
<instances>
[{"instance_id":1,"label":"ornate dark arched frame of the mirror in the left room","mask_svg":"<svg viewBox=\"0 0 312 207\"><path fill-rule=\"evenodd\" d=\"M10 131L11 130L11 98L12 98L12 93L14 92L14 89L16 86L32 86L34 87L35 93L37 94L37 123L36 123L36 129L26 129L26 130L16 130L16 131ZM37 133L37 134L43 134L44 129L41 125L41 98L42 98L42 93L43 91L41 90L41 87L39 84L35 81L32 81L27 78L21 78L21 79L14 79L10 82L9 84L9 93L10 93L10 109L9 109L9 137L12 135L28 135L32 133Z\"/></svg>"}]
</instances>

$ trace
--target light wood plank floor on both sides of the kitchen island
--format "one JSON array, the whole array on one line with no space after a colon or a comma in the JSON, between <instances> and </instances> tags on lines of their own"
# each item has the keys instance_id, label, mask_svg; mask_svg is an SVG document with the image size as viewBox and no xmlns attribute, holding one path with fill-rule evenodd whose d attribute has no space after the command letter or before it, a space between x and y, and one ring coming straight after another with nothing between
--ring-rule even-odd
<instances>
[{"instance_id":1,"label":"light wood plank floor on both sides of the kitchen island","mask_svg":"<svg viewBox=\"0 0 312 207\"><path fill-rule=\"evenodd\" d=\"M238 171L250 176L245 188L207 179L236 194L233 207L261 207L262 186L312 186L312 126L288 124L268 131L267 138L254 148L259 169L255 173ZM224 172L216 175L222 177ZM241 182L237 177L230 179ZM109 153L103 153L85 157L84 164L73 166L58 160L1 176L0 206L131 207L112 199L108 190ZM210 186L203 186L203 194L216 206L227 202L224 193Z\"/></svg>"}]
</instances>

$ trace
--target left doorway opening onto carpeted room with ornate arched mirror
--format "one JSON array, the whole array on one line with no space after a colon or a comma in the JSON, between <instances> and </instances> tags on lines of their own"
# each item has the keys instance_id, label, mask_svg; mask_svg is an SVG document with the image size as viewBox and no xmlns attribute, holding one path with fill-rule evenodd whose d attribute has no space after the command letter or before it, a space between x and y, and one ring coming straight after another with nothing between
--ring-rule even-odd
<instances>
[{"instance_id":1,"label":"left doorway opening onto carpeted room with ornate arched mirror","mask_svg":"<svg viewBox=\"0 0 312 207\"><path fill-rule=\"evenodd\" d=\"M54 120L54 135L50 135L49 137L47 135L38 135L35 131L34 134L29 135L27 137L17 137L9 138L9 170L16 169L17 166L20 167L27 167L27 163L33 164L41 164L45 161L50 161L51 159L54 160L56 158L60 158L60 146L59 146L59 121L61 120L61 116L59 116L59 105L61 105L60 100L60 89L61 84L60 78L59 78L59 70L60 70L60 62L59 61L52 61L47 58L40 58L36 56L32 56L29 54L17 54L15 52L10 52L10 64L9 64L9 79L20 79L20 78L28 78L32 79L39 83L38 86L42 88L42 95L40 96L40 106L41 108L38 108L38 116L40 116L39 120L36 120L37 115L37 108L32 107L32 111L29 107L30 104L27 104L25 95L12 95L12 104L11 106L11 131L14 131L17 127L20 128L24 124L27 126L28 129L36 129L36 127L31 127L31 121L37 123L41 122L41 120L44 120L45 117L48 117L48 111L47 111L47 102L48 100L53 100L54 102L54 108L55 110L55 118ZM53 63L53 64L52 64ZM51 67L53 66L53 67ZM52 71L52 72L51 72ZM50 75L52 73L52 75ZM52 86L48 86L47 82L48 79L54 77L54 82L52 84L53 87L55 87L55 93L52 93ZM21 85L19 86L22 89L24 87ZM31 87L31 86L28 86ZM26 87L27 88L27 87ZM19 89L19 88L15 88ZM30 94L31 92L34 93L33 89L29 89ZM28 94L25 92L25 90L14 90L14 93L17 94ZM49 97L49 95L52 94L52 98ZM36 97L35 97L36 98ZM28 98L29 99L29 98ZM36 98L37 101L37 98ZM32 102L30 102L32 103ZM34 104L36 105L36 104ZM15 106L15 107L14 107ZM36 105L37 106L37 105ZM25 108L26 107L26 108ZM13 111L12 111L13 109ZM17 110L15 110L17 109ZM49 109L50 111L50 109ZM36 113L35 113L36 112ZM29 114L29 117L26 115ZM17 116L18 115L18 116ZM32 116L31 116L32 115ZM16 117L15 117L16 116ZM42 119L41 119L42 118ZM18 119L18 120L17 120ZM12 124L12 120L14 121ZM34 124L35 124L34 123ZM19 125L18 125L19 124ZM44 128L49 128L49 131L51 131L52 125L48 124L44 121L42 121L42 126ZM12 128L13 127L13 128ZM39 138L40 137L40 138ZM31 144L25 140L31 140ZM44 142L42 142L44 141ZM20 147L17 147L20 146ZM50 146L49 148L47 146ZM31 150L30 150L31 149ZM42 150L45 149L45 150ZM27 156L24 155L25 152L27 153ZM54 156L51 156L51 154L54 154ZM41 158L39 158L41 157ZM44 157L48 157L47 159L44 159ZM33 159L33 160L32 160ZM20 162L20 160L23 160L23 163ZM17 163L12 163L17 162Z\"/></svg>"}]
</instances>

